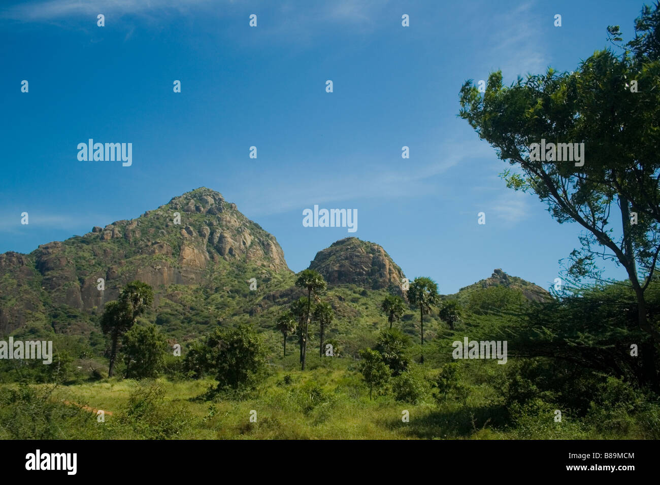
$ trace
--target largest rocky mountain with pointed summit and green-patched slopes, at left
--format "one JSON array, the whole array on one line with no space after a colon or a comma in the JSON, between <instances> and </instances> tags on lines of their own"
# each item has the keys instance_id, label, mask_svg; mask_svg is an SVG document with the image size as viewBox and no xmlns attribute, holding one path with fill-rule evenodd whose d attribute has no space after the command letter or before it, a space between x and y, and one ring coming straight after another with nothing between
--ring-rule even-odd
<instances>
[{"instance_id":1,"label":"largest rocky mountain with pointed summit and green-patched slopes, at left","mask_svg":"<svg viewBox=\"0 0 660 485\"><path fill-rule=\"evenodd\" d=\"M228 264L254 275L290 273L275 237L220 193L201 187L137 219L94 226L84 236L40 245L30 255L0 254L0 276L5 276L0 280L0 332L20 327L30 311L44 310L45 302L100 310L134 279L154 288L156 302L171 284L232 286L236 275L226 276L221 269Z\"/></svg>"}]
</instances>

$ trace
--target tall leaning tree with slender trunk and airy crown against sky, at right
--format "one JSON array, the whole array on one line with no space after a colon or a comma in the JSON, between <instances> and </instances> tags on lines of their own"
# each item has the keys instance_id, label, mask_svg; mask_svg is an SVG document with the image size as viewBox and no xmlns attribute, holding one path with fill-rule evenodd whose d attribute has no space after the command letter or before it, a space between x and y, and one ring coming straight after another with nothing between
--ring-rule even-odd
<instances>
[{"instance_id":1,"label":"tall leaning tree with slender trunk and airy crown against sky, at right","mask_svg":"<svg viewBox=\"0 0 660 485\"><path fill-rule=\"evenodd\" d=\"M584 229L568 275L602 280L599 258L625 269L638 326L656 343L660 331L649 323L645 290L657 277L660 252L658 8L644 7L636 37L619 55L598 51L572 73L548 69L510 87L502 85L501 72L491 73L483 96L466 82L460 112L499 158L515 166L502 173L508 187L535 193L559 223L577 222ZM618 26L608 32L612 42L621 40ZM583 165L537 160L531 144L542 139L584 143ZM645 353L653 352L651 344Z\"/></svg>"}]
</instances>

